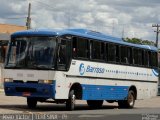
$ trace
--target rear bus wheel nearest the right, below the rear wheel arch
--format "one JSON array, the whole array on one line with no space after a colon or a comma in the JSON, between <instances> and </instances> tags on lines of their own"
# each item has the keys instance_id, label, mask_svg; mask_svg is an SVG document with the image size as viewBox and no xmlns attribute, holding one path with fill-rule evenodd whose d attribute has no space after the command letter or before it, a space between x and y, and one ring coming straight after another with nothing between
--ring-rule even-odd
<instances>
[{"instance_id":1,"label":"rear bus wheel nearest the right, below the rear wheel arch","mask_svg":"<svg viewBox=\"0 0 160 120\"><path fill-rule=\"evenodd\" d=\"M129 90L127 100L118 101L118 105L120 108L133 108L135 104L135 93L132 90Z\"/></svg>"}]
</instances>

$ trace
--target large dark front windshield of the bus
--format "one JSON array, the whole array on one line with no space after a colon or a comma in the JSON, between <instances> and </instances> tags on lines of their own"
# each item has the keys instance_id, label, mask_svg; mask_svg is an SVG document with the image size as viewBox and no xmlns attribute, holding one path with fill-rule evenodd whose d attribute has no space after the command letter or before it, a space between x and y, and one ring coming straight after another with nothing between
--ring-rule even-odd
<instances>
[{"instance_id":1,"label":"large dark front windshield of the bus","mask_svg":"<svg viewBox=\"0 0 160 120\"><path fill-rule=\"evenodd\" d=\"M7 68L54 69L55 37L17 37L9 44Z\"/></svg>"}]
</instances>

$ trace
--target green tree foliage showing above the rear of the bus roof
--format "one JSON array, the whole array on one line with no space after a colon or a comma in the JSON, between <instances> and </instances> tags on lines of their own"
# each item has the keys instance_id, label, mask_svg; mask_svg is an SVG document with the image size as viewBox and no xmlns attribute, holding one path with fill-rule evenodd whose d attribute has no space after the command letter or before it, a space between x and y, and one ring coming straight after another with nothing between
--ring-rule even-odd
<instances>
[{"instance_id":1,"label":"green tree foliage showing above the rear of the bus roof","mask_svg":"<svg viewBox=\"0 0 160 120\"><path fill-rule=\"evenodd\" d=\"M155 46L155 43L153 41L142 40L142 39L139 39L139 38L125 38L124 41L134 43L134 44L143 44L143 45Z\"/></svg>"}]
</instances>

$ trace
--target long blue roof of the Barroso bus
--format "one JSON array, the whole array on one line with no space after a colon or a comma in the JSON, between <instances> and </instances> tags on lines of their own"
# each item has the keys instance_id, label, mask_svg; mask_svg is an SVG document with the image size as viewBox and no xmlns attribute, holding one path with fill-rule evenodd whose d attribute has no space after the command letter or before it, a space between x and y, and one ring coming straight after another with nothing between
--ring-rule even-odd
<instances>
[{"instance_id":1,"label":"long blue roof of the Barroso bus","mask_svg":"<svg viewBox=\"0 0 160 120\"><path fill-rule=\"evenodd\" d=\"M19 31L13 33L11 36L53 36L53 35L75 35L75 36L81 36L81 37L86 37L90 39L96 39L96 40L101 40L101 41L106 41L106 42L112 42L112 43L117 43L121 45L126 45L126 46L133 46L137 48L143 48L143 49L148 49L148 50L153 50L153 51L158 51L158 49L154 46L150 45L140 45L140 44L133 44L129 42L123 41L121 38L113 37L111 35L106 35L100 32L96 31L91 31L87 29L31 29L31 30L24 30L24 31Z\"/></svg>"}]
</instances>

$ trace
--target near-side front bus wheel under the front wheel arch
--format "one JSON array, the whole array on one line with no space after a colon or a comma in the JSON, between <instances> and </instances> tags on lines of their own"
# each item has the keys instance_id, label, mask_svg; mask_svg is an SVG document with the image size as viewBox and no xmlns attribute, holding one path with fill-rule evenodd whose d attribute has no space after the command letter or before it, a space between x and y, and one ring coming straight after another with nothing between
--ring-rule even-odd
<instances>
[{"instance_id":1,"label":"near-side front bus wheel under the front wheel arch","mask_svg":"<svg viewBox=\"0 0 160 120\"><path fill-rule=\"evenodd\" d=\"M75 101L76 101L76 96L74 94L74 90L71 90L69 92L69 99L66 101L67 110L72 111L75 109Z\"/></svg>"}]
</instances>

